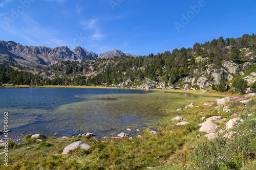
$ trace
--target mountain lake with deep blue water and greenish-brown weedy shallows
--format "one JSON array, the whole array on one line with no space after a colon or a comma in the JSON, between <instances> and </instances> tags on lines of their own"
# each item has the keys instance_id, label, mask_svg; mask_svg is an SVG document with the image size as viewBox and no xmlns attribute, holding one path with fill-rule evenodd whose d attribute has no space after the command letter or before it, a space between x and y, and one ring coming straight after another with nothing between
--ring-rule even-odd
<instances>
[{"instance_id":1,"label":"mountain lake with deep blue water and greenish-brown weedy shallows","mask_svg":"<svg viewBox=\"0 0 256 170\"><path fill-rule=\"evenodd\" d=\"M101 138L127 132L127 128L135 136L145 127L157 130L155 122L166 116L163 108L172 105L176 109L176 101L184 99L178 93L124 89L0 88L0 92L0 112L9 113L8 126L13 130L9 137L14 138L86 132ZM4 122L3 117L0 120Z\"/></svg>"}]
</instances>

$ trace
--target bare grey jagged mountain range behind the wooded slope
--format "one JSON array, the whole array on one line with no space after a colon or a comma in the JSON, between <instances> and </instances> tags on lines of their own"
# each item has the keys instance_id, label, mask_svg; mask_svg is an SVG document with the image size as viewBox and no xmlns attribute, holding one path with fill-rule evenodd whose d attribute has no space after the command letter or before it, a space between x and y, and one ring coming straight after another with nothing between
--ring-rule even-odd
<instances>
[{"instance_id":1,"label":"bare grey jagged mountain range behind the wooded slope","mask_svg":"<svg viewBox=\"0 0 256 170\"><path fill-rule=\"evenodd\" d=\"M45 68L61 60L81 61L82 59L109 59L115 56L138 57L123 53L120 50L105 52L100 55L88 52L83 47L77 46L70 50L68 46L50 48L46 46L26 46L14 41L0 40L0 61L12 61L30 68Z\"/></svg>"}]
</instances>

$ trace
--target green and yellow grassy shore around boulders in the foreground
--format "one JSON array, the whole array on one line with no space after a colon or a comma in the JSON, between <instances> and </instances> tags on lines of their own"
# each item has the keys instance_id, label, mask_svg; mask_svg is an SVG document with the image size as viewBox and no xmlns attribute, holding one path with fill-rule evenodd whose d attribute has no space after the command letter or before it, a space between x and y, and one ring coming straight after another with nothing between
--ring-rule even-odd
<instances>
[{"instance_id":1,"label":"green and yellow grassy shore around boulders in the foreground","mask_svg":"<svg viewBox=\"0 0 256 170\"><path fill-rule=\"evenodd\" d=\"M50 137L41 143L26 136L20 145L9 142L9 166L4 165L4 157L0 156L0 169L255 169L256 99L246 104L231 101L228 104L230 112L223 112L223 106L217 106L211 99L227 94L186 92L202 97L195 99L195 107L182 111L165 106L171 116L157 122L156 134L144 129L142 137L134 139ZM204 102L212 106L203 106ZM245 123L226 131L226 122L235 114ZM189 125L177 126L177 122L172 120L177 115L187 119ZM199 132L198 124L205 121L201 117L213 115L227 118L216 124L225 131L223 134L236 131L234 138L226 139L222 134L218 139L209 141L204 137L205 132ZM91 148L88 151L75 149L68 155L60 154L67 145L79 140L91 145Z\"/></svg>"}]
</instances>

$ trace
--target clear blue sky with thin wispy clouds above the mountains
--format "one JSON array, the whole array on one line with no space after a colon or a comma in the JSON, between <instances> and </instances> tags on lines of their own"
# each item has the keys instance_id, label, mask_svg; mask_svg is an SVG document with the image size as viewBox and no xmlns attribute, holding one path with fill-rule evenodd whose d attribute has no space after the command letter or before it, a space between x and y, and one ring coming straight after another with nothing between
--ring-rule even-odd
<instances>
[{"instance_id":1,"label":"clear blue sky with thin wispy clouds above the mountains","mask_svg":"<svg viewBox=\"0 0 256 170\"><path fill-rule=\"evenodd\" d=\"M143 56L256 33L255 6L254 0L2 0L0 40Z\"/></svg>"}]
</instances>

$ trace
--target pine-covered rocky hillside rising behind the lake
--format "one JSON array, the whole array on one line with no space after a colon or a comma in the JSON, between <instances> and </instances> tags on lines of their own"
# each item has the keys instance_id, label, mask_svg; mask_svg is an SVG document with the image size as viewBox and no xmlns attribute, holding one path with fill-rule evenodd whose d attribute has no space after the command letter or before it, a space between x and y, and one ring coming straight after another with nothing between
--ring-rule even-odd
<instances>
[{"instance_id":1,"label":"pine-covered rocky hillside rising behind the lake","mask_svg":"<svg viewBox=\"0 0 256 170\"><path fill-rule=\"evenodd\" d=\"M67 47L63 49L67 50ZM85 56L88 53L84 51L84 48L77 47L72 53ZM112 55L123 53L115 51ZM176 48L172 53L55 61L35 75L37 81L27 77L23 80L28 79L28 85L104 85L137 89L200 89L226 82L223 88L228 90L227 85L230 87L232 81L239 78L244 78L249 85L254 83L255 56L256 36L245 34L240 38L224 40L220 37L204 44L196 43L193 48ZM75 60L75 55L70 59ZM8 79L7 72L5 70L4 76ZM2 83L13 83L7 79Z\"/></svg>"}]
</instances>

